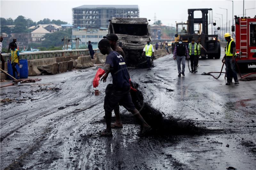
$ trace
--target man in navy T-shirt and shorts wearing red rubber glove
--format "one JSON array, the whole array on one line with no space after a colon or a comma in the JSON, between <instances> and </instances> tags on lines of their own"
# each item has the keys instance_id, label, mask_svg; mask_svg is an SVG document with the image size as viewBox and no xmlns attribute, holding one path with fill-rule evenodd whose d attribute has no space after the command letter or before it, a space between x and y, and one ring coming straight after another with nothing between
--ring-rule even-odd
<instances>
[{"instance_id":1,"label":"man in navy T-shirt and shorts wearing red rubber glove","mask_svg":"<svg viewBox=\"0 0 256 170\"><path fill-rule=\"evenodd\" d=\"M140 115L140 112L134 107L132 103L130 94L130 76L123 56L116 51L113 51L110 47L109 41L106 39L100 40L98 48L100 49L100 53L103 55L107 54L107 57L104 67L102 69L98 69L92 81L93 87L96 88L99 85L100 77L108 71L110 71L112 75L113 84L109 84L107 86L104 100L106 129L98 132L97 134L100 136L112 136L111 112L116 107L117 103L126 108L139 120L143 127L142 134L146 134L151 130L151 127L147 124L147 122L145 122L145 120Z\"/></svg>"}]
</instances>

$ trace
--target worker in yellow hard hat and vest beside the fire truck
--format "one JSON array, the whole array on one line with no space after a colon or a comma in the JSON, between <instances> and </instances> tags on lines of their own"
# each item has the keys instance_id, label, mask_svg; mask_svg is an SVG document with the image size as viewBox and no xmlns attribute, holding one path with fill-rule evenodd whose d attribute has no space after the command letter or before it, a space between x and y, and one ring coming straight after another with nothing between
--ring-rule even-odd
<instances>
[{"instance_id":1,"label":"worker in yellow hard hat and vest beside the fire truck","mask_svg":"<svg viewBox=\"0 0 256 170\"><path fill-rule=\"evenodd\" d=\"M237 74L236 74L236 68L235 68L235 62L236 62L236 43L231 40L230 33L224 34L225 41L227 41L225 55L222 59L222 63L225 63L226 65L226 75L227 75L227 83L226 85L230 85L232 78L230 74L233 75L233 78L235 80L235 85L239 84Z\"/></svg>"}]
</instances>

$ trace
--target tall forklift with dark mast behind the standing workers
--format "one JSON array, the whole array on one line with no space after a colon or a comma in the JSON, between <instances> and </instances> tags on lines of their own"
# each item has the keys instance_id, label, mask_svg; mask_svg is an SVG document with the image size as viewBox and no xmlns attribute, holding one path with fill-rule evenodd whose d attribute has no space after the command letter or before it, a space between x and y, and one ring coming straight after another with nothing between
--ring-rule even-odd
<instances>
[{"instance_id":1,"label":"tall forklift with dark mast behind the standing workers","mask_svg":"<svg viewBox=\"0 0 256 170\"><path fill-rule=\"evenodd\" d=\"M201 11L202 18L195 18L194 12ZM195 41L199 41L200 44L207 50L205 52L201 49L201 57L205 59L219 59L220 58L220 42L218 41L218 34L208 34L208 11L212 9L188 9L188 20L185 23L176 23L176 34L175 43L178 43L179 38L183 39L183 42L188 46L191 39L194 38ZM211 16L212 17L212 16ZM212 23L216 26L216 23ZM180 28L182 26L182 28ZM187 30L184 27L187 26ZM220 27L217 28L220 30Z\"/></svg>"}]
</instances>

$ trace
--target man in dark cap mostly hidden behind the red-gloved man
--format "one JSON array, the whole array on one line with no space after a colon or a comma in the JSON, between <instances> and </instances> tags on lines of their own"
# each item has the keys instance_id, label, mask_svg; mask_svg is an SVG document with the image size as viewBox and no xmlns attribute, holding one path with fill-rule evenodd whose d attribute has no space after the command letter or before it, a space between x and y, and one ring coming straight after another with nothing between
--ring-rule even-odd
<instances>
[{"instance_id":1,"label":"man in dark cap mostly hidden behind the red-gloved man","mask_svg":"<svg viewBox=\"0 0 256 170\"><path fill-rule=\"evenodd\" d=\"M118 40L118 37L116 34L111 33L108 36L104 36L103 38L106 38L109 41L110 47L112 48L113 51L116 51L117 53L122 55L123 58L125 58L123 49L121 47L117 46L117 44L116 44L116 42ZM104 76L101 78L101 80L103 80L104 83L106 82L106 79L107 79L109 73L110 73L110 71L106 72L104 74ZM123 128L123 124L122 124L121 118L120 118L119 104L117 104L116 107L114 108L114 113L116 115L116 122L111 125L111 128Z\"/></svg>"}]
</instances>

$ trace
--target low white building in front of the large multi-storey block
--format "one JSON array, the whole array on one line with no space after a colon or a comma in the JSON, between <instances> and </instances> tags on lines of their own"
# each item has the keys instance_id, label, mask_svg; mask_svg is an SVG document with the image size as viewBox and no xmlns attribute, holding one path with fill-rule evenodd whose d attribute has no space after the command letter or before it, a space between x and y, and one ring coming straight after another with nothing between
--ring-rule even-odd
<instances>
[{"instance_id":1,"label":"low white building in front of the large multi-storey block","mask_svg":"<svg viewBox=\"0 0 256 170\"><path fill-rule=\"evenodd\" d=\"M108 28L76 28L72 29L72 39L79 38L79 47L88 46L91 41L92 48L98 48L98 42L108 34ZM72 41L72 48L76 48L76 41Z\"/></svg>"}]
</instances>

